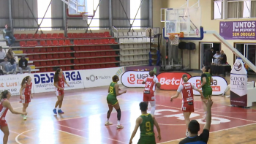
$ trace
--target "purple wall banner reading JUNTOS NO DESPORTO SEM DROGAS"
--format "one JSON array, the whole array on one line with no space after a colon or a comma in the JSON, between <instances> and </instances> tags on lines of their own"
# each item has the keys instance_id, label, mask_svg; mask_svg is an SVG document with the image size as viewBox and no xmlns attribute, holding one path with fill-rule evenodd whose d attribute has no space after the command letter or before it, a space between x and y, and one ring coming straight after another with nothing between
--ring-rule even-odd
<instances>
[{"instance_id":1,"label":"purple wall banner reading JUNTOS NO DESPORTO SEM DROGAS","mask_svg":"<svg viewBox=\"0 0 256 144\"><path fill-rule=\"evenodd\" d=\"M256 40L256 21L221 21L219 34L224 39Z\"/></svg>"}]
</instances>

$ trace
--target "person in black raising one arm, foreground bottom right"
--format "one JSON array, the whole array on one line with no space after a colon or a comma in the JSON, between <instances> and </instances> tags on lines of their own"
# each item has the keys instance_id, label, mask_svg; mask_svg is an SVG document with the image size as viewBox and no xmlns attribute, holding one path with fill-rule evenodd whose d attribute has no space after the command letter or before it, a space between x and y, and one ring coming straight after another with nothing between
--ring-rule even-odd
<instances>
[{"instance_id":1,"label":"person in black raising one arm, foreground bottom right","mask_svg":"<svg viewBox=\"0 0 256 144\"><path fill-rule=\"evenodd\" d=\"M207 103L205 103L207 107L207 114L206 114L206 125L203 128L202 134L198 136L198 132L200 131L200 124L196 120L192 120L189 122L189 137L181 140L179 144L189 144L189 143L207 143L209 139L209 130L211 127L211 106L213 102L211 96L208 96Z\"/></svg>"}]
</instances>

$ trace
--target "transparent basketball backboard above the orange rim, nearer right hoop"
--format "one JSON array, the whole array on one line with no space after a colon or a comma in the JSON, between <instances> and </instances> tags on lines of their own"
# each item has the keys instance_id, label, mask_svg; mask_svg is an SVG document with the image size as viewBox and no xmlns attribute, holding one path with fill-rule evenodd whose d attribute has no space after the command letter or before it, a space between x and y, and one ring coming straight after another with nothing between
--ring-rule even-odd
<instances>
[{"instance_id":1,"label":"transparent basketball backboard above the orange rim, nearer right hoop","mask_svg":"<svg viewBox=\"0 0 256 144\"><path fill-rule=\"evenodd\" d=\"M200 37L201 9L187 7L165 9L165 37L170 33L184 33L184 37Z\"/></svg>"}]
</instances>

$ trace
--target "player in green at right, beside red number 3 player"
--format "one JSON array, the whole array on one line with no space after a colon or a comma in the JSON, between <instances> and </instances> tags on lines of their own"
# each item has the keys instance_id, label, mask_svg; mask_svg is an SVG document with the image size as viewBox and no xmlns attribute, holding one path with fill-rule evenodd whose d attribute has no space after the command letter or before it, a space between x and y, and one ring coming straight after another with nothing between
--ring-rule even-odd
<instances>
[{"instance_id":1,"label":"player in green at right, beside red number 3 player","mask_svg":"<svg viewBox=\"0 0 256 144\"><path fill-rule=\"evenodd\" d=\"M202 91L203 91L202 102L203 102L203 110L205 111L205 115L203 116L203 121L206 121L206 113L207 113L207 107L206 105L204 105L204 103L207 103L208 96L211 96L212 94L211 83L214 81L209 71L210 71L210 67L208 66L205 66L202 68L203 74L201 75L201 86L198 86L198 88L202 88Z\"/></svg>"}]
</instances>

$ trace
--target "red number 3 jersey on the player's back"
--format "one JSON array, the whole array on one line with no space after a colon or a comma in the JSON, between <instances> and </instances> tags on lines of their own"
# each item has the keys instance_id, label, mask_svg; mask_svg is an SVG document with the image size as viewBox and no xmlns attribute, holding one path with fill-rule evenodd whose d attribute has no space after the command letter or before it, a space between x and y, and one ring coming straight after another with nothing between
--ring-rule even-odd
<instances>
[{"instance_id":1,"label":"red number 3 jersey on the player's back","mask_svg":"<svg viewBox=\"0 0 256 144\"><path fill-rule=\"evenodd\" d=\"M182 84L183 89L182 89L182 102L187 103L187 102L193 102L193 87L191 83L183 83Z\"/></svg>"}]
</instances>

